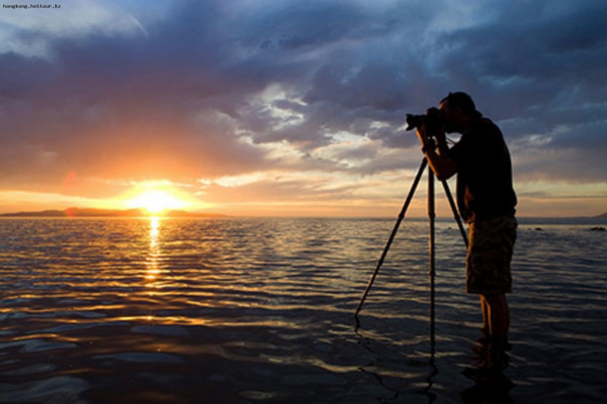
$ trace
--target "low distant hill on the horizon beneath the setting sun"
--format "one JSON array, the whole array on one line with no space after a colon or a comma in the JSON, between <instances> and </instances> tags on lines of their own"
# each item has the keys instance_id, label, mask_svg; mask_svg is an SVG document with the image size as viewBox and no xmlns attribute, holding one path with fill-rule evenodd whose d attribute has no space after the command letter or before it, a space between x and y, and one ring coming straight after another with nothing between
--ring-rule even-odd
<instances>
[{"instance_id":1,"label":"low distant hill on the horizon beneath the setting sun","mask_svg":"<svg viewBox=\"0 0 607 404\"><path fill-rule=\"evenodd\" d=\"M157 215L148 213L144 209L95 209L95 208L67 208L66 210L42 210L36 212L3 213L0 217L227 217L219 213L195 213L185 210L168 210Z\"/></svg>"}]
</instances>

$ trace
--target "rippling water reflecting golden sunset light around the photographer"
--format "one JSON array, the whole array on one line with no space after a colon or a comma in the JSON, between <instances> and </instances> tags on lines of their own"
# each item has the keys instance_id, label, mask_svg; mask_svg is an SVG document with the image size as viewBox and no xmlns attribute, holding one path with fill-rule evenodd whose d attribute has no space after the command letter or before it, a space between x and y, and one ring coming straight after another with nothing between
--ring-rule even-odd
<instances>
[{"instance_id":1,"label":"rippling water reflecting golden sunset light around the photographer","mask_svg":"<svg viewBox=\"0 0 607 404\"><path fill-rule=\"evenodd\" d=\"M466 376L480 308L452 222L435 351L427 220L401 225L356 329L393 224L2 219L0 403L605 402L605 232L520 226L510 363L487 380Z\"/></svg>"}]
</instances>

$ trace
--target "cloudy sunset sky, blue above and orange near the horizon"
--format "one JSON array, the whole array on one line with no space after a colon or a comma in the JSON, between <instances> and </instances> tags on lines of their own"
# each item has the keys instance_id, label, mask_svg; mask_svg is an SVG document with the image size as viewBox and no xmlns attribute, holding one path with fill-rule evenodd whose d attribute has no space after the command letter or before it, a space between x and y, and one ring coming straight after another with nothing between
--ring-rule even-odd
<instances>
[{"instance_id":1,"label":"cloudy sunset sky, blue above and orange near the horizon","mask_svg":"<svg viewBox=\"0 0 607 404\"><path fill-rule=\"evenodd\" d=\"M503 131L519 216L607 211L604 1L35 4L61 7L0 9L0 212L160 190L190 211L396 217L422 159L405 113L449 91Z\"/></svg>"}]
</instances>

